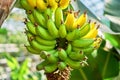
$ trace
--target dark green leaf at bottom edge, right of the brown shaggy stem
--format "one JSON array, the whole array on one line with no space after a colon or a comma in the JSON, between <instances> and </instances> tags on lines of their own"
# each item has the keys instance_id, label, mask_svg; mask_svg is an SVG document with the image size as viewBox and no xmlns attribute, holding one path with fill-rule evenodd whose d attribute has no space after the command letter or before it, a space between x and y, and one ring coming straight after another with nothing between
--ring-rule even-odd
<instances>
[{"instance_id":1,"label":"dark green leaf at bottom edge, right of the brown shaggy stem","mask_svg":"<svg viewBox=\"0 0 120 80\"><path fill-rule=\"evenodd\" d=\"M71 72L70 80L102 80L102 76L96 64L96 60L92 55L88 56L88 64L84 68L79 70L73 70Z\"/></svg>"}]
</instances>

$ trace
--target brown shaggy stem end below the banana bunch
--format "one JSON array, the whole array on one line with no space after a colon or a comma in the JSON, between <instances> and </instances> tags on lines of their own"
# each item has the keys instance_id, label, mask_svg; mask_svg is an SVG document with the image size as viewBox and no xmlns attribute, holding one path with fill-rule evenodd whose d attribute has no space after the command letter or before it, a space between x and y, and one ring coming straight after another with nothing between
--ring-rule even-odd
<instances>
[{"instance_id":1,"label":"brown shaggy stem end below the banana bunch","mask_svg":"<svg viewBox=\"0 0 120 80\"><path fill-rule=\"evenodd\" d=\"M52 73L45 73L47 80L69 80L71 68L67 67L64 70L56 70Z\"/></svg>"}]
</instances>

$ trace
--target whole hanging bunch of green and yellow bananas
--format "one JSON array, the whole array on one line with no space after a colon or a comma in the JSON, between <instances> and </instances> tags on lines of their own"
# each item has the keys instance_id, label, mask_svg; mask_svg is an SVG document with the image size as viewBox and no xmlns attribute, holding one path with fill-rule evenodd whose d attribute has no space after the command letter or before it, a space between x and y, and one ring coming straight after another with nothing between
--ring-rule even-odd
<instances>
[{"instance_id":1,"label":"whole hanging bunch of green and yellow bananas","mask_svg":"<svg viewBox=\"0 0 120 80\"><path fill-rule=\"evenodd\" d=\"M27 18L25 34L30 45L26 49L40 55L43 61L37 70L46 73L79 69L87 64L87 55L102 41L96 22L87 21L87 13L79 17L73 10L66 11L70 0L21 0Z\"/></svg>"}]
</instances>

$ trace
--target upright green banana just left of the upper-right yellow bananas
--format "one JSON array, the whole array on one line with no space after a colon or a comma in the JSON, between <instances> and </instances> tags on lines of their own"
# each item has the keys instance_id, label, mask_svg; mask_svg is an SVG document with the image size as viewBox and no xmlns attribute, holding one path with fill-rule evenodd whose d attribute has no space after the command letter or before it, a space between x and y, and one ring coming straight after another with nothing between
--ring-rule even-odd
<instances>
[{"instance_id":1,"label":"upright green banana just left of the upper-right yellow bananas","mask_svg":"<svg viewBox=\"0 0 120 80\"><path fill-rule=\"evenodd\" d=\"M62 9L60 7L58 7L55 10L55 24L56 24L57 28L60 27L62 21L63 21L63 12L62 12Z\"/></svg>"}]
</instances>

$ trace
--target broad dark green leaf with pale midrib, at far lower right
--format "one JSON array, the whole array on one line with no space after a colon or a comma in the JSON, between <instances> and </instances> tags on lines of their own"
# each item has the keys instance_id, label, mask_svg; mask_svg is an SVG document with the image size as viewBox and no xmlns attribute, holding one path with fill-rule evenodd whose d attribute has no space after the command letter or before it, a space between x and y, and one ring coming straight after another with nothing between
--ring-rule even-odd
<instances>
[{"instance_id":1,"label":"broad dark green leaf with pale midrib, at far lower right","mask_svg":"<svg viewBox=\"0 0 120 80\"><path fill-rule=\"evenodd\" d=\"M115 53L104 51L102 48L98 50L95 60L103 78L111 78L119 74L119 62L113 54Z\"/></svg>"}]
</instances>

